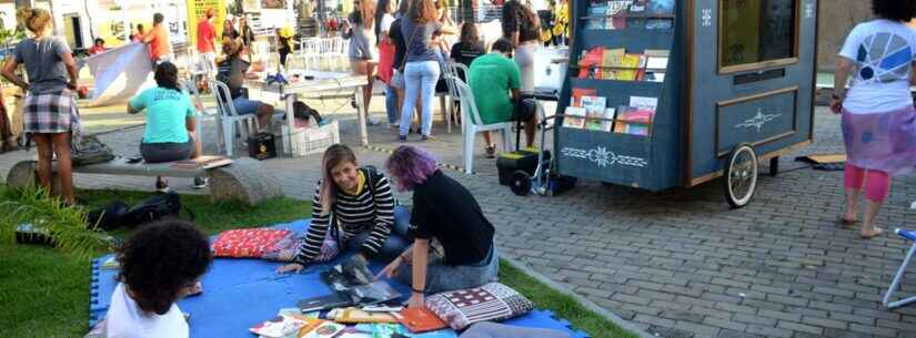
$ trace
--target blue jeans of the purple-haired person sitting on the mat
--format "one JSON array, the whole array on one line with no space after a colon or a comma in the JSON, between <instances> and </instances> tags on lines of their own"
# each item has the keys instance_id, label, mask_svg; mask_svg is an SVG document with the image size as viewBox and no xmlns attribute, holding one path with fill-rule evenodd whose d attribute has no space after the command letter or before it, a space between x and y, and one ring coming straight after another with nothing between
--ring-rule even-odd
<instances>
[{"instance_id":1,"label":"blue jeans of the purple-haired person sitting on the mat","mask_svg":"<svg viewBox=\"0 0 916 338\"><path fill-rule=\"evenodd\" d=\"M432 295L479 287L496 281L499 273L500 255L496 253L495 240L486 258L476 264L445 265L439 257L431 255L426 264L426 294ZM394 278L406 285L412 285L413 265L402 264Z\"/></svg>"}]
</instances>

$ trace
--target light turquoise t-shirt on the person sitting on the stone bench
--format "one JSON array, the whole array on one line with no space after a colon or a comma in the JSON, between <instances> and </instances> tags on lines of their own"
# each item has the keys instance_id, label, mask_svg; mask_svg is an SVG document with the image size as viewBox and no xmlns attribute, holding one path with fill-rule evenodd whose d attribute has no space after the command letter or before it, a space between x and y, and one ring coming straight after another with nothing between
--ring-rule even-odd
<instances>
[{"instance_id":1,"label":"light turquoise t-shirt on the person sitting on the stone bench","mask_svg":"<svg viewBox=\"0 0 916 338\"><path fill-rule=\"evenodd\" d=\"M184 121L194 116L191 96L164 88L151 88L130 100L130 106L147 110L147 130L143 143L187 143Z\"/></svg>"}]
</instances>

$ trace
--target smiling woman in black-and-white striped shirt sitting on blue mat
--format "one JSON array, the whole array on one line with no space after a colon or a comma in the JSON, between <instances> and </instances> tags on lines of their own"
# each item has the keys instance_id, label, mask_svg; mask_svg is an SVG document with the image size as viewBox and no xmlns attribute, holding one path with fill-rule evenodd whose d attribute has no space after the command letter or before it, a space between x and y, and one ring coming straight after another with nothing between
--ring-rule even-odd
<instances>
[{"instance_id":1,"label":"smiling woman in black-and-white striped shirt sitting on blue mat","mask_svg":"<svg viewBox=\"0 0 916 338\"><path fill-rule=\"evenodd\" d=\"M322 157L323 178L312 199L312 225L293 258L278 272L300 272L314 262L328 236L362 258L396 257L407 245L409 215L389 180L374 167L359 167L346 145L334 144Z\"/></svg>"}]
</instances>

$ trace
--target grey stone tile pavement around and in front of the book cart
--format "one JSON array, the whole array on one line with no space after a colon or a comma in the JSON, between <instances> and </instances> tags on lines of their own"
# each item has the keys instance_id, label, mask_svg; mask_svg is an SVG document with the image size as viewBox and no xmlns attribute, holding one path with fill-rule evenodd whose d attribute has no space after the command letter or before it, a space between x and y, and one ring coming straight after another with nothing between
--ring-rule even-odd
<instances>
[{"instance_id":1,"label":"grey stone tile pavement around and in front of the book cart","mask_svg":"<svg viewBox=\"0 0 916 338\"><path fill-rule=\"evenodd\" d=\"M355 143L353 123L342 127ZM460 162L460 131L437 141L410 142L444 162ZM393 148L395 132L370 129L375 145ZM135 153L139 130L105 134L118 151ZM212 139L211 139L212 140ZM798 153L842 152L838 119L818 110L816 142ZM858 238L834 224L843 205L842 172L801 168L762 176L757 195L729 209L715 181L691 190L648 193L580 182L553 197L512 194L496 185L495 163L481 156L476 174L447 171L474 193L497 228L502 253L660 337L808 338L916 337L916 307L884 309L879 301L905 243L884 235ZM360 161L381 166L385 154L355 147ZM23 153L0 155L0 174ZM264 162L284 193L311 198L319 155ZM765 170L765 167L764 167ZM84 188L151 190L152 180L79 175ZM182 192L190 184L173 180ZM399 198L410 204L409 194ZM906 226L916 178L897 178L882 225ZM904 280L904 293L916 290Z\"/></svg>"}]
</instances>

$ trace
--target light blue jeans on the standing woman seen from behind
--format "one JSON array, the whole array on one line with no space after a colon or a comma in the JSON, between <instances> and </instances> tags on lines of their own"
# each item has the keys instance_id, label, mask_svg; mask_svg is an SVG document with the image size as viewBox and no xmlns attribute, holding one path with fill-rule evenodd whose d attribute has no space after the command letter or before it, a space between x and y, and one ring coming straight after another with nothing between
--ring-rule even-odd
<instances>
[{"instance_id":1,"label":"light blue jeans on the standing woman seen from behind","mask_svg":"<svg viewBox=\"0 0 916 338\"><path fill-rule=\"evenodd\" d=\"M439 62L422 61L407 62L404 68L404 105L401 107L401 136L407 135L413 120L413 106L420 96L422 102L421 120L423 125L421 132L429 136L433 129L433 95L435 94L435 82L439 81L441 70Z\"/></svg>"}]
</instances>

